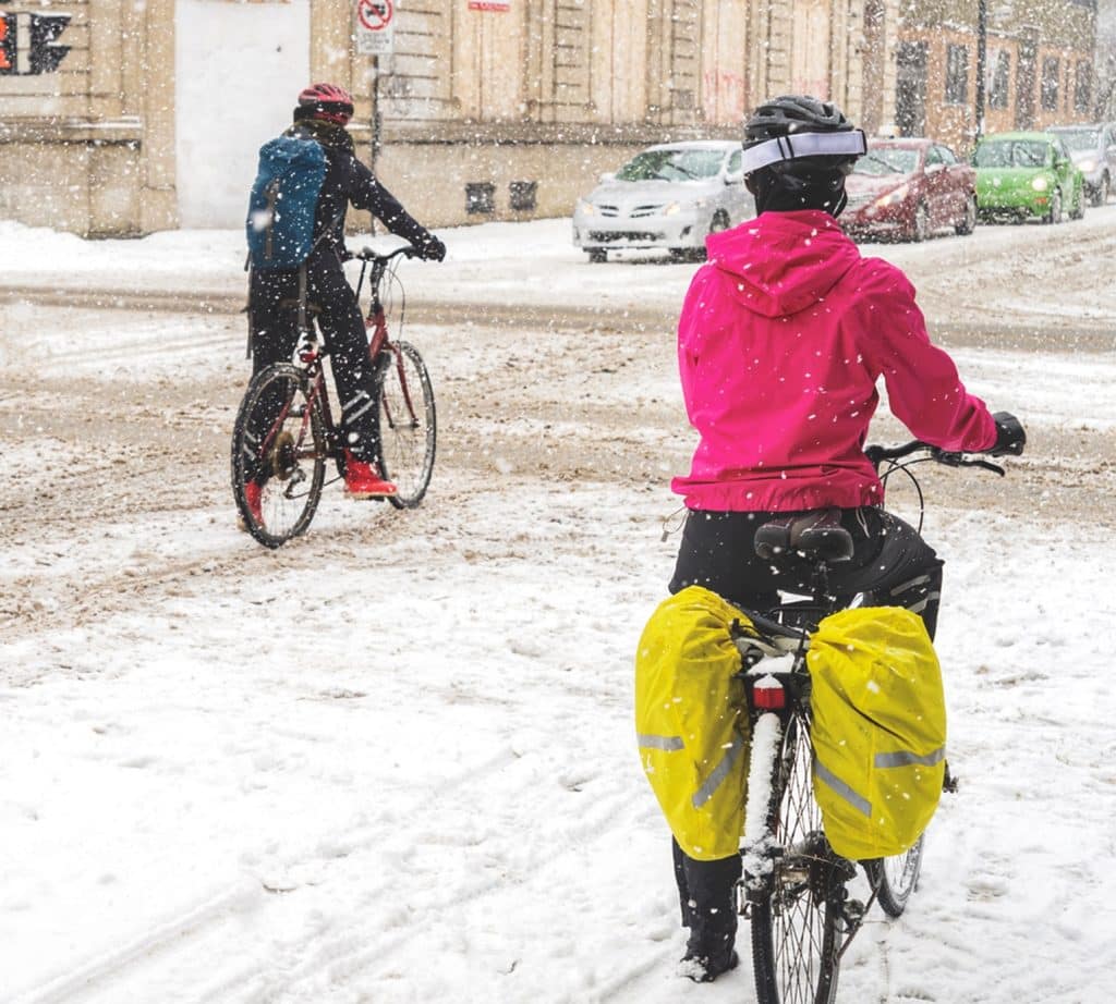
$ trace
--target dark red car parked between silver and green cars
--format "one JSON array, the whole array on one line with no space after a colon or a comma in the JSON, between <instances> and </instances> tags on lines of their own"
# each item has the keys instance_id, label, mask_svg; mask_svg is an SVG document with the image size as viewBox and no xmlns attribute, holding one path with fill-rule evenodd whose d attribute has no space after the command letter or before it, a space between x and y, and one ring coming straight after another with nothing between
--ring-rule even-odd
<instances>
[{"instance_id":1,"label":"dark red car parked between silver and green cars","mask_svg":"<svg viewBox=\"0 0 1116 1004\"><path fill-rule=\"evenodd\" d=\"M924 241L977 225L977 172L932 139L869 139L845 191L840 223L853 238Z\"/></svg>"}]
</instances>

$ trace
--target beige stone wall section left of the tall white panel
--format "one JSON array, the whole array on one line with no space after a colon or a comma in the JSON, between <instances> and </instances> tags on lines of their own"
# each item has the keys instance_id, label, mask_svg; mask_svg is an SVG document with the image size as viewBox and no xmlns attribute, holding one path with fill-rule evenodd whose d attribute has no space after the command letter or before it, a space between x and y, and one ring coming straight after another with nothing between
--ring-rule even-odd
<instances>
[{"instance_id":1,"label":"beige stone wall section left of the tall white panel","mask_svg":"<svg viewBox=\"0 0 1116 1004\"><path fill-rule=\"evenodd\" d=\"M175 225L174 0L0 0L0 219Z\"/></svg>"}]
</instances>

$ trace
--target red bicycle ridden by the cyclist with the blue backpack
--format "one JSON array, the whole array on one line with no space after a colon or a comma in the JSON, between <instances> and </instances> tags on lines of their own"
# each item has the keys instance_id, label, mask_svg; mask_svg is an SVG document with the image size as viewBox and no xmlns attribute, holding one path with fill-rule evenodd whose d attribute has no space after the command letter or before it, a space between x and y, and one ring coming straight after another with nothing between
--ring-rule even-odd
<instances>
[{"instance_id":1,"label":"red bicycle ridden by the cyclist with the blue backpack","mask_svg":"<svg viewBox=\"0 0 1116 1004\"><path fill-rule=\"evenodd\" d=\"M362 262L358 300L366 274L368 278L365 326L379 415L376 463L383 476L395 483L397 493L387 500L396 509L413 509L426 494L437 435L426 365L413 345L388 335L384 307L387 283L395 278L393 261L419 253L417 248L405 244L387 254L366 248L353 255ZM329 348L319 337L317 310L307 301L305 270L299 273L298 299L288 306L297 315L298 363L275 364L252 378L232 434L237 508L246 529L268 548L278 548L306 532L326 484L327 461L333 460L337 467L333 481L345 476L343 429L334 421L325 378ZM252 517L244 496L244 485L252 480L262 485L262 521Z\"/></svg>"}]
</instances>

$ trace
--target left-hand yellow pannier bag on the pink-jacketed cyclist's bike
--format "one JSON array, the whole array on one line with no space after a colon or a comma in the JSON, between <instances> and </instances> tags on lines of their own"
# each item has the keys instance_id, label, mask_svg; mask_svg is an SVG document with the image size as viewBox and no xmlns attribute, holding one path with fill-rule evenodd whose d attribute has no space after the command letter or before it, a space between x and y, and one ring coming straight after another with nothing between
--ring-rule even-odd
<instances>
[{"instance_id":1,"label":"left-hand yellow pannier bag on the pink-jacketed cyclist's bike","mask_svg":"<svg viewBox=\"0 0 1116 1004\"><path fill-rule=\"evenodd\" d=\"M635 659L643 770L679 846L699 861L740 849L749 726L733 620L748 617L689 586L652 614Z\"/></svg>"}]
</instances>

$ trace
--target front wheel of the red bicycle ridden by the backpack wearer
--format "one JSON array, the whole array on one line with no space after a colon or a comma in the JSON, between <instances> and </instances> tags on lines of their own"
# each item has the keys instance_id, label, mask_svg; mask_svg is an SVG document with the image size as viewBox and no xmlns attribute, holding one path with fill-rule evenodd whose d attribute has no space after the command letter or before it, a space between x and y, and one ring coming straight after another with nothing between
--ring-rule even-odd
<instances>
[{"instance_id":1,"label":"front wheel of the red bicycle ridden by the backpack wearer","mask_svg":"<svg viewBox=\"0 0 1116 1004\"><path fill-rule=\"evenodd\" d=\"M430 486L437 445L434 388L422 356L408 341L382 351L379 368L379 469L395 484L387 499L396 509L414 509Z\"/></svg>"}]
</instances>

